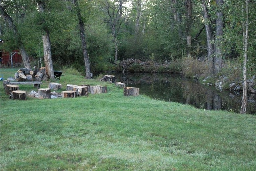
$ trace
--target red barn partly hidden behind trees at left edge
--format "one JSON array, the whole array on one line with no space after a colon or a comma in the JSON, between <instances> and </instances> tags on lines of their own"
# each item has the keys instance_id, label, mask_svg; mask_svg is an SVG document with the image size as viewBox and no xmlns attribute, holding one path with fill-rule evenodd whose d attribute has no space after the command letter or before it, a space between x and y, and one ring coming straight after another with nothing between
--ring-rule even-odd
<instances>
[{"instance_id":1,"label":"red barn partly hidden behind trees at left edge","mask_svg":"<svg viewBox=\"0 0 256 171\"><path fill-rule=\"evenodd\" d=\"M10 55L11 53L11 55ZM11 57L13 66L21 66L22 58L19 50L13 50L12 52L2 51L2 66L11 66Z\"/></svg>"}]
</instances>

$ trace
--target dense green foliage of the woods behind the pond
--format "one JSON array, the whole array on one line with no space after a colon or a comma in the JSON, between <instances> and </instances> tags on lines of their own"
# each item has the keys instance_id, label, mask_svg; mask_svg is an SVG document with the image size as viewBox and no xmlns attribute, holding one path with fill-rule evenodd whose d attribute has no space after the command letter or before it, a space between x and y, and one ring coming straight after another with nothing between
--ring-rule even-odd
<instances>
[{"instance_id":1,"label":"dense green foliage of the woods behind the pond","mask_svg":"<svg viewBox=\"0 0 256 171\"><path fill-rule=\"evenodd\" d=\"M223 72L227 70L232 72L235 68L227 69L230 66L228 63L238 59L240 62L237 63L236 67L242 73L244 1L224 0L221 9L216 5L216 1L191 1L192 21L190 21L189 27L191 27L192 60L186 58L188 51L186 44L187 23L189 21L186 17L187 1L189 0L125 0L122 3L117 0L79 1L82 19L85 23L92 72L116 69L113 66L118 67L118 65L112 65L115 62L115 46L118 46L118 60L133 58L166 64L178 60L181 61L180 64L182 65L187 63L187 66L193 59L204 60L207 56L204 24L205 22L210 24L215 38L216 12L222 10L224 22L221 43ZM40 62L43 60L44 52L41 30L48 28L54 68L61 69L63 66L73 66L84 71L79 25L72 1L56 0L45 1L45 3L47 9L45 14L38 12L36 2L33 0L2 0L1 8L13 19L30 57L31 65L38 65L39 67L44 65L44 62ZM202 3L207 4L208 21L203 19ZM111 5L109 9L106 8L106 4ZM118 9L120 4L123 7L122 18L117 23L112 22L112 25L116 24L120 26L120 29L113 39L113 29L111 29L113 27L109 21L112 19L112 15L117 17L113 9ZM250 75L256 72L255 9L256 1L249 1L248 72ZM0 35L1 39L5 40L5 43L1 44L2 51L17 49L17 40L4 17L1 17ZM214 43L212 42L212 44ZM188 70L188 68L184 69Z\"/></svg>"}]
</instances>

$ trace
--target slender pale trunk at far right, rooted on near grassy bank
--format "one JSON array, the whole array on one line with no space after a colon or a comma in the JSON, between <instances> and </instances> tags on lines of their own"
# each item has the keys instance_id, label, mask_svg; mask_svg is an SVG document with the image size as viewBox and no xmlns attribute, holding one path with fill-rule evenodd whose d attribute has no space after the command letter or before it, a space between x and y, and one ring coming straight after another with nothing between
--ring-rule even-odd
<instances>
[{"instance_id":1,"label":"slender pale trunk at far right, rooted on near grassy bank","mask_svg":"<svg viewBox=\"0 0 256 171\"><path fill-rule=\"evenodd\" d=\"M243 6L242 6L243 8ZM243 67L243 76L244 76L244 88L243 88L243 98L242 106L240 113L246 113L247 106L247 81L246 81L246 61L247 61L247 48L248 48L248 20L249 20L249 9L248 9L248 0L246 0L246 23L243 21L243 37L244 37L244 67ZM244 10L244 9L243 9Z\"/></svg>"}]
</instances>

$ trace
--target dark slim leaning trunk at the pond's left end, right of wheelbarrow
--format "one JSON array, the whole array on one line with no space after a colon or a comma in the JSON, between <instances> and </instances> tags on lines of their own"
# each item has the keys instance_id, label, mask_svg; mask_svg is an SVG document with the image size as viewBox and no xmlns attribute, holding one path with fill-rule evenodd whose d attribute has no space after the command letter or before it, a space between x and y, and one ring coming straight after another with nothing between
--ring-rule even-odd
<instances>
[{"instance_id":1,"label":"dark slim leaning trunk at the pond's left end, right of wheelbarrow","mask_svg":"<svg viewBox=\"0 0 256 171\"><path fill-rule=\"evenodd\" d=\"M80 37L81 37L81 41L82 41L82 48L83 48L83 55L84 55L84 62L85 62L85 78L90 79L91 78L91 67L90 67L90 60L89 60L89 55L88 55L86 40L85 40L84 22L81 17L81 10L78 6L77 0L73 0L73 3L75 5L77 18L79 21Z\"/></svg>"}]
</instances>

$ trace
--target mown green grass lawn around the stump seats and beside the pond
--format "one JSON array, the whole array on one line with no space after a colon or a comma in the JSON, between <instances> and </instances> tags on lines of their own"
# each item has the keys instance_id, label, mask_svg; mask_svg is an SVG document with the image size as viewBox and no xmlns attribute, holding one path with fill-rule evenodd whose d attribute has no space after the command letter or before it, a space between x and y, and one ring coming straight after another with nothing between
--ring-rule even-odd
<instances>
[{"instance_id":1,"label":"mown green grass lawn around the stump seats and beside the pond","mask_svg":"<svg viewBox=\"0 0 256 171\"><path fill-rule=\"evenodd\" d=\"M0 71L6 79L17 69ZM58 92L90 84L106 85L108 93L19 101L1 82L1 171L256 170L255 115L124 97L114 84L71 73L56 81L63 85Z\"/></svg>"}]
</instances>

